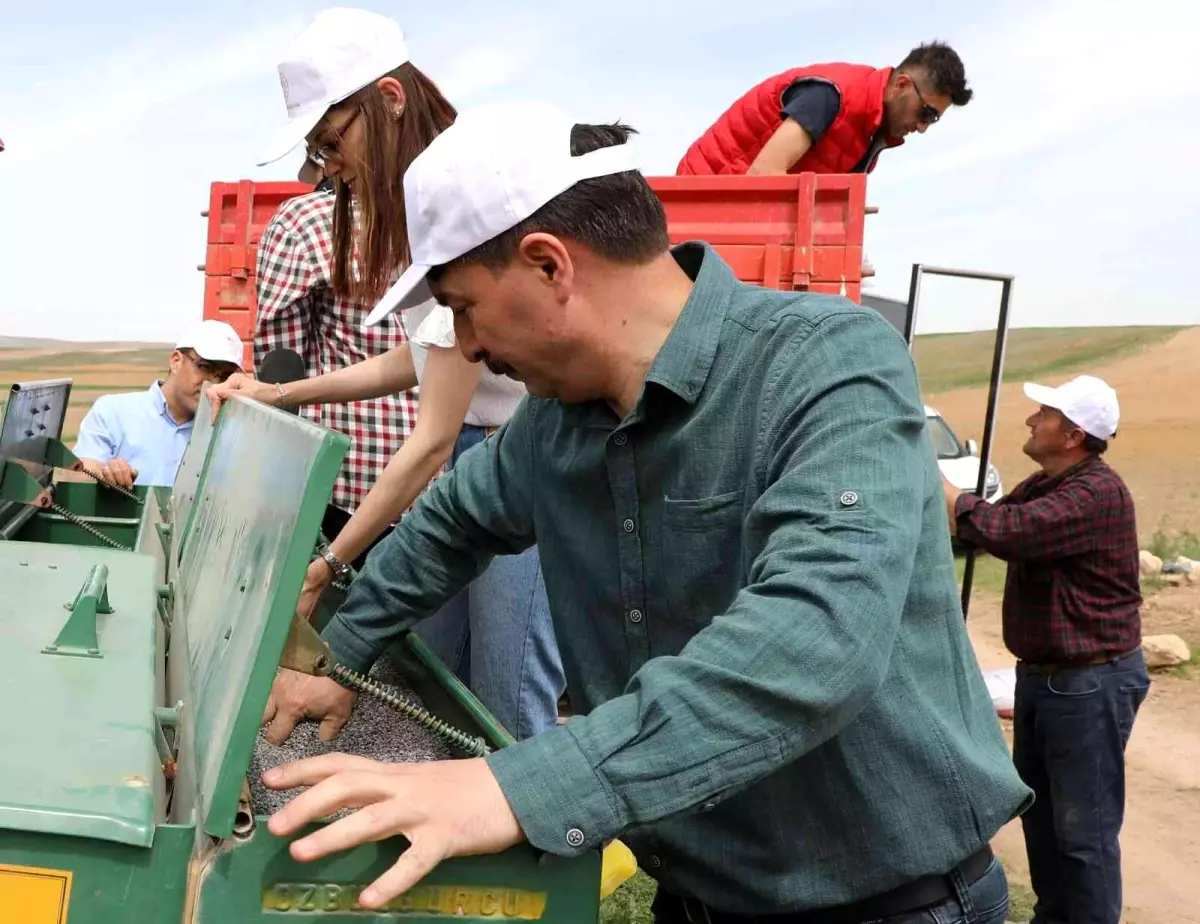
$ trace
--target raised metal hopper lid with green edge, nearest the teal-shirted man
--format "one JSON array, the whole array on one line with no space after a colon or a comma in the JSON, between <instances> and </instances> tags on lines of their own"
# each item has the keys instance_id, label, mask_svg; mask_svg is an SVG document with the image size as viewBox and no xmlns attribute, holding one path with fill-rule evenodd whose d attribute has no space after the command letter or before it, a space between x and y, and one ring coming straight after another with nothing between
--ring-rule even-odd
<instances>
[{"instance_id":1,"label":"raised metal hopper lid with green edge, nearest the teal-shirted man","mask_svg":"<svg viewBox=\"0 0 1200 924\"><path fill-rule=\"evenodd\" d=\"M214 836L233 832L263 709L348 448L341 433L242 398L222 408L210 437L185 527L174 618L186 622L199 811Z\"/></svg>"}]
</instances>

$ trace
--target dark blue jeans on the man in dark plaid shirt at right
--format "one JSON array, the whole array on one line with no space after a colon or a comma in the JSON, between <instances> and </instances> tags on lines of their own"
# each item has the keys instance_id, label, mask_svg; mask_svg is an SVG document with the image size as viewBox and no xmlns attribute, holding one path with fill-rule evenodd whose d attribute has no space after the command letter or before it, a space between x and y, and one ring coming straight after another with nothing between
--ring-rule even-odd
<instances>
[{"instance_id":1,"label":"dark blue jeans on the man in dark plaid shirt at right","mask_svg":"<svg viewBox=\"0 0 1200 924\"><path fill-rule=\"evenodd\" d=\"M1117 924L1124 749L1150 690L1141 649L1046 673L1016 666L1013 761L1036 802L1021 816L1033 924Z\"/></svg>"}]
</instances>

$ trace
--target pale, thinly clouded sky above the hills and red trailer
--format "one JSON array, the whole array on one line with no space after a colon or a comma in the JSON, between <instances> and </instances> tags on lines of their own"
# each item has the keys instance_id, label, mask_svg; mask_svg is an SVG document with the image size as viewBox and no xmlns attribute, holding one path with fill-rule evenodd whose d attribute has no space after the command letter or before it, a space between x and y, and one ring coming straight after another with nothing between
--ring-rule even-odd
<instances>
[{"instance_id":1,"label":"pale, thinly clouded sky above the hills and red trailer","mask_svg":"<svg viewBox=\"0 0 1200 924\"><path fill-rule=\"evenodd\" d=\"M275 64L326 2L0 0L0 335L170 340L202 311L214 180L283 119ZM668 174L742 92L821 60L896 64L949 41L976 98L884 152L874 290L916 260L1018 276L1013 323L1200 323L1200 13L1182 0L366 2L461 109L548 98L641 132ZM998 289L930 281L920 331L988 328Z\"/></svg>"}]
</instances>

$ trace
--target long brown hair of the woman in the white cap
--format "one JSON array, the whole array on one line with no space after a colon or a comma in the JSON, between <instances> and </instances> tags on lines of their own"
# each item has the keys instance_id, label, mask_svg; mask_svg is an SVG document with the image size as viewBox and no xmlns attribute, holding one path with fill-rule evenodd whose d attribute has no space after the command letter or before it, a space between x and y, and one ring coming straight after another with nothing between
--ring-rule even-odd
<instances>
[{"instance_id":1,"label":"long brown hair of the woman in the white cap","mask_svg":"<svg viewBox=\"0 0 1200 924\"><path fill-rule=\"evenodd\" d=\"M350 96L343 106L356 106L364 120L366 156L361 158L355 188L359 228L354 230L350 191L335 179L332 286L355 301L378 301L410 259L408 222L404 220L404 170L457 116L437 85L412 64L402 64L383 77L395 78L404 90L404 109L392 118L378 82ZM383 79L380 77L379 79ZM355 244L358 246L355 246ZM358 263L358 278L352 266Z\"/></svg>"}]
</instances>

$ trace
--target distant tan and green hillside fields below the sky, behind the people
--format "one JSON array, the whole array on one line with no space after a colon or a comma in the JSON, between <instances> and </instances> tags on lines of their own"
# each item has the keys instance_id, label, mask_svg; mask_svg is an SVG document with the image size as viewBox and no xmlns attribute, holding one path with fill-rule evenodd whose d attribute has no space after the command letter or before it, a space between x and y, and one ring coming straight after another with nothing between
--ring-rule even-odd
<instances>
[{"instance_id":1,"label":"distant tan and green hillside fields below the sky, behind the people","mask_svg":"<svg viewBox=\"0 0 1200 924\"><path fill-rule=\"evenodd\" d=\"M6 346L7 344L7 346ZM66 442L100 395L148 388L163 373L168 344L86 344L0 340L0 389L6 382L70 377ZM918 337L913 348L925 401L962 439L982 442L992 336ZM1105 377L1117 389L1123 425L1109 458L1138 500L1140 530L1200 527L1200 328L1080 328L1015 330L1009 335L992 461L1006 486L1033 466L1021 454L1031 407L1021 382L1057 384L1079 372ZM1200 532L1198 529L1196 532Z\"/></svg>"}]
</instances>

